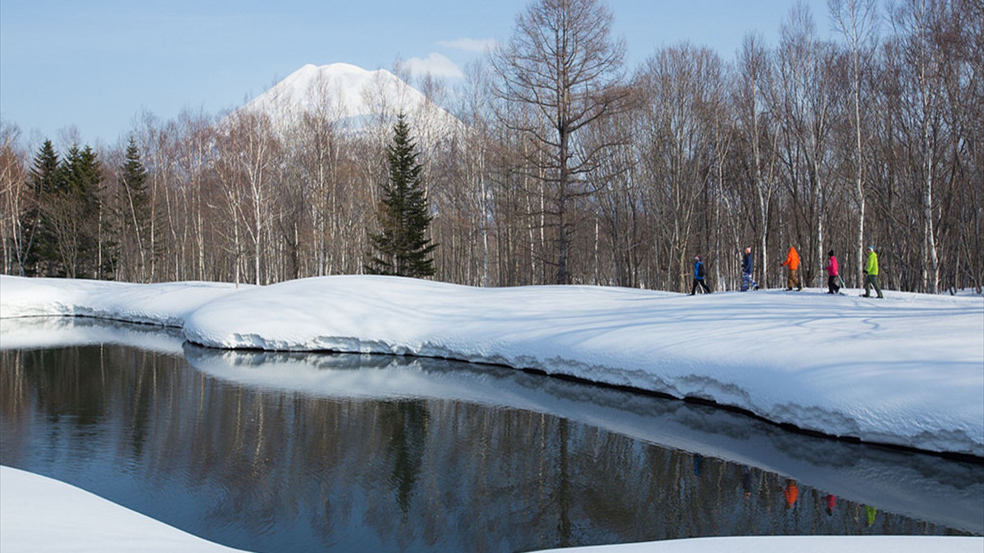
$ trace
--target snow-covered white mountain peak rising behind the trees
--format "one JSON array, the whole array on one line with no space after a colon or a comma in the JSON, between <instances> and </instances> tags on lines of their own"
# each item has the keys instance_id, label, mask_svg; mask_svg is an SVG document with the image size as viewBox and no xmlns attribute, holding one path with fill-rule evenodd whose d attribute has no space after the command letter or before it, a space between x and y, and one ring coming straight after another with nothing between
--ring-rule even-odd
<instances>
[{"instance_id":1,"label":"snow-covered white mountain peak rising behind the trees","mask_svg":"<svg viewBox=\"0 0 984 553\"><path fill-rule=\"evenodd\" d=\"M385 69L367 71L347 63L307 64L240 109L271 115L277 124L306 113L354 129L389 126L403 112L414 134L445 134L461 122Z\"/></svg>"}]
</instances>

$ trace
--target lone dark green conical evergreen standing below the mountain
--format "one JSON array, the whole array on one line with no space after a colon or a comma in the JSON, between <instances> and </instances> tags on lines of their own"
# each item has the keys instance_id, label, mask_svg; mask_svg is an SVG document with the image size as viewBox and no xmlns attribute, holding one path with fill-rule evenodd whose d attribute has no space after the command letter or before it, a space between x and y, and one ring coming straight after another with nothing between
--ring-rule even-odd
<instances>
[{"instance_id":1,"label":"lone dark green conical evergreen standing below the mountain","mask_svg":"<svg viewBox=\"0 0 984 553\"><path fill-rule=\"evenodd\" d=\"M386 152L390 178L380 183L376 212L381 231L369 235L374 253L369 254L364 268L372 275L432 276L434 260L428 256L438 245L431 244L426 235L433 217L428 214L420 182L423 167L417 162L416 145L402 114L393 135Z\"/></svg>"}]
</instances>

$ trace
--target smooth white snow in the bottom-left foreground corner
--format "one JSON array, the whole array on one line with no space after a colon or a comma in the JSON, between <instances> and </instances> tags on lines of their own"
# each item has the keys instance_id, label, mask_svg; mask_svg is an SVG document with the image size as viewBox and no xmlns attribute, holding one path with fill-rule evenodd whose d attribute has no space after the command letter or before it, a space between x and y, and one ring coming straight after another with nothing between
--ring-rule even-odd
<instances>
[{"instance_id":1,"label":"smooth white snow in the bottom-left foreground corner","mask_svg":"<svg viewBox=\"0 0 984 553\"><path fill-rule=\"evenodd\" d=\"M0 466L0 551L239 551L85 490Z\"/></svg>"}]
</instances>

